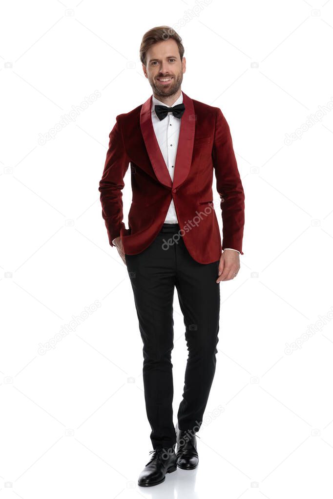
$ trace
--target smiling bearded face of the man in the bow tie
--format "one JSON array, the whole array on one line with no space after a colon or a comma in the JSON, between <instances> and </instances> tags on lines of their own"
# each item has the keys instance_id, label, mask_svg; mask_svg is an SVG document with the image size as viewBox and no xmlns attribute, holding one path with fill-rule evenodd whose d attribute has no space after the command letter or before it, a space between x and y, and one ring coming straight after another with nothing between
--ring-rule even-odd
<instances>
[{"instance_id":1,"label":"smiling bearded face of the man in the bow tie","mask_svg":"<svg viewBox=\"0 0 333 499\"><path fill-rule=\"evenodd\" d=\"M186 70L186 60L183 57L181 61L175 40L170 38L152 45L146 53L146 64L147 66L142 65L143 72L154 95L167 97L179 90Z\"/></svg>"}]
</instances>

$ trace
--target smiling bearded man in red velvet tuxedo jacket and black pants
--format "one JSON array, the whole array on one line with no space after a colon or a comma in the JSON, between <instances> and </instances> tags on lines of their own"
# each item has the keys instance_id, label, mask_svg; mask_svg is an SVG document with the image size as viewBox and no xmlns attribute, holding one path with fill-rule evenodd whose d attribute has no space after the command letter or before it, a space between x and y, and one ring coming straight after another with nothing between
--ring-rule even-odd
<instances>
[{"instance_id":1,"label":"smiling bearded man in red velvet tuxedo jacket and black pants","mask_svg":"<svg viewBox=\"0 0 333 499\"><path fill-rule=\"evenodd\" d=\"M218 107L181 90L180 36L158 26L143 36L140 60L153 95L116 117L99 184L109 243L127 265L143 341L143 383L151 458L138 484L198 465L202 424L216 366L221 281L243 254L244 191L228 123ZM132 204L123 223L123 178L131 165ZM213 206L216 176L223 242ZM183 399L173 425L173 295L189 351ZM177 453L175 446L177 445Z\"/></svg>"}]
</instances>

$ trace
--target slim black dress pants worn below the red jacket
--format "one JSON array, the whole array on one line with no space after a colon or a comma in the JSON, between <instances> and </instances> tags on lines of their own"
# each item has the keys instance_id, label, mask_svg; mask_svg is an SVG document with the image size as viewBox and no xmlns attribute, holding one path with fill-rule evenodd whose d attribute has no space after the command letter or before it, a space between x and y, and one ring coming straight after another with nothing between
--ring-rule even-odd
<instances>
[{"instance_id":1,"label":"slim black dress pants worn below the red jacket","mask_svg":"<svg viewBox=\"0 0 333 499\"><path fill-rule=\"evenodd\" d=\"M143 341L144 395L153 449L169 449L176 443L171 363L175 287L189 352L177 415L180 430L198 432L202 424L219 341L219 260L198 263L186 249L179 230L178 224L164 224L146 250L125 255Z\"/></svg>"}]
</instances>

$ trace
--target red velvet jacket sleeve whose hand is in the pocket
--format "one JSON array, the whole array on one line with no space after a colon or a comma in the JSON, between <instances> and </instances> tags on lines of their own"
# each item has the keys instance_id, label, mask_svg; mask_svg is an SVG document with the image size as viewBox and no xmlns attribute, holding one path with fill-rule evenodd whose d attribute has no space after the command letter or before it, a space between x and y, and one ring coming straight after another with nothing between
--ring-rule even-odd
<instances>
[{"instance_id":1,"label":"red velvet jacket sleeve whose hand is in the pocket","mask_svg":"<svg viewBox=\"0 0 333 499\"><path fill-rule=\"evenodd\" d=\"M125 229L122 189L124 188L123 179L129 161L121 135L119 116L117 116L116 123L109 134L109 147L98 188L102 205L102 217L105 221L110 246L115 246L112 241L120 236L120 229Z\"/></svg>"}]
</instances>

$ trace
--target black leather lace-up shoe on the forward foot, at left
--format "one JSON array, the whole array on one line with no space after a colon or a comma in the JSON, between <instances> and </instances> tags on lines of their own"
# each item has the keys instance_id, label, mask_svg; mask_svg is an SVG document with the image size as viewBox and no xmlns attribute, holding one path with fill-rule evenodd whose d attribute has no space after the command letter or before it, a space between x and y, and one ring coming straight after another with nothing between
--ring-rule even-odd
<instances>
[{"instance_id":1,"label":"black leather lace-up shoe on the forward foot, at left","mask_svg":"<svg viewBox=\"0 0 333 499\"><path fill-rule=\"evenodd\" d=\"M157 448L150 451L149 454L153 455L139 475L138 485L141 487L161 484L164 482L167 473L177 470L177 458L174 449Z\"/></svg>"}]
</instances>

